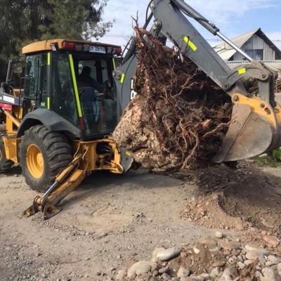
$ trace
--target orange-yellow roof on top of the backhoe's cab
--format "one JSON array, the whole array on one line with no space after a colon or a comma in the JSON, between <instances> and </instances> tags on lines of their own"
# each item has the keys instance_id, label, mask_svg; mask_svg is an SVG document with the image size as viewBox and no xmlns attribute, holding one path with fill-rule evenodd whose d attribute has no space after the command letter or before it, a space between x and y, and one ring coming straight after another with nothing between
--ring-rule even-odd
<instances>
[{"instance_id":1,"label":"orange-yellow roof on top of the backhoe's cab","mask_svg":"<svg viewBox=\"0 0 281 281\"><path fill-rule=\"evenodd\" d=\"M51 39L51 40L44 40L44 41L37 41L32 44L29 44L22 48L22 53L37 53L41 51L51 51L51 44L56 44L58 49L65 49L63 48L64 42L67 43L74 43L74 44L81 44L81 45L89 45L89 46L100 46L100 47L111 47L111 48L121 48L121 46L112 45L112 44L103 44L100 42L92 42L92 41L79 41L79 40L70 40L70 39Z\"/></svg>"}]
</instances>

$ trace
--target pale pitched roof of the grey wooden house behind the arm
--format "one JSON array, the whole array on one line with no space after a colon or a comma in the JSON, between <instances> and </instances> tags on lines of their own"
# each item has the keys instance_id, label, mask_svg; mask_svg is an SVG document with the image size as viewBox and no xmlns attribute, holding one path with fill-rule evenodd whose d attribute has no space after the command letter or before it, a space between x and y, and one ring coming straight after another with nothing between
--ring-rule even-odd
<instances>
[{"instance_id":1,"label":"pale pitched roof of the grey wooden house behind the arm","mask_svg":"<svg viewBox=\"0 0 281 281\"><path fill-rule=\"evenodd\" d=\"M238 47L242 48L242 46L244 46L244 44L246 44L247 41L249 41L249 39L251 39L251 37L254 36L254 34L261 37L266 42L266 44L268 44L270 46L270 48L273 48L273 50L275 51L275 53L277 55L277 59L281 58L280 49L277 48L277 46L275 46L275 44L273 44L272 41L270 41L270 39L266 36L266 34L264 34L261 31L261 28L256 28L255 30L251 30L250 32L247 32L246 34L242 34L238 37L235 37L232 41ZM214 50L218 53L218 55L221 56L221 58L223 58L223 60L229 60L236 53L236 51L233 48L231 48L228 44L226 44L224 42L215 46Z\"/></svg>"}]
</instances>

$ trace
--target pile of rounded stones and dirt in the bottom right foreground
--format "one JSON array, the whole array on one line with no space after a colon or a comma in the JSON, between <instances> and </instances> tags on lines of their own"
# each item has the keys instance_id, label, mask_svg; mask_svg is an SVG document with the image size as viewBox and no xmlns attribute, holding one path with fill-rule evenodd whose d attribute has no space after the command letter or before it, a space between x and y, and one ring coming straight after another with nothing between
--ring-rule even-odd
<instances>
[{"instance_id":1,"label":"pile of rounded stones and dirt in the bottom right foreground","mask_svg":"<svg viewBox=\"0 0 281 281\"><path fill-rule=\"evenodd\" d=\"M216 234L216 239L207 238L192 246L157 248L150 260L120 270L115 280L281 281L280 241L276 237L263 237L265 244L261 245L226 240L223 235L220 238Z\"/></svg>"}]
</instances>

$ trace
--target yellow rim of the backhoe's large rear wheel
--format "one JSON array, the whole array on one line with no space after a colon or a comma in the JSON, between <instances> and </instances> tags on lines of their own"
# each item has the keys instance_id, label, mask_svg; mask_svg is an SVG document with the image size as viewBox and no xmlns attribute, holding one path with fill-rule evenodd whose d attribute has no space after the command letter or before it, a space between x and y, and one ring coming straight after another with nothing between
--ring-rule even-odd
<instances>
[{"instance_id":1,"label":"yellow rim of the backhoe's large rear wheel","mask_svg":"<svg viewBox=\"0 0 281 281\"><path fill-rule=\"evenodd\" d=\"M27 169L34 178L41 178L44 172L44 158L37 145L30 145L27 148Z\"/></svg>"}]
</instances>

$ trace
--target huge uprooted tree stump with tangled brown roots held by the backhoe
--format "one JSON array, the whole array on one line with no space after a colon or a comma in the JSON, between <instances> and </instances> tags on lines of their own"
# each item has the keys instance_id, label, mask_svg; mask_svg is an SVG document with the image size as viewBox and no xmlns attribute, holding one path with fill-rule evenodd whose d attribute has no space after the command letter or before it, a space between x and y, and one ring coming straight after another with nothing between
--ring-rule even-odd
<instances>
[{"instance_id":1,"label":"huge uprooted tree stump with tangled brown roots held by the backhoe","mask_svg":"<svg viewBox=\"0 0 281 281\"><path fill-rule=\"evenodd\" d=\"M221 148L231 100L179 48L166 48L146 30L135 31L138 94L113 137L154 171L202 165Z\"/></svg>"}]
</instances>

